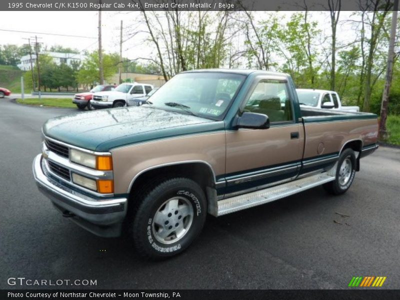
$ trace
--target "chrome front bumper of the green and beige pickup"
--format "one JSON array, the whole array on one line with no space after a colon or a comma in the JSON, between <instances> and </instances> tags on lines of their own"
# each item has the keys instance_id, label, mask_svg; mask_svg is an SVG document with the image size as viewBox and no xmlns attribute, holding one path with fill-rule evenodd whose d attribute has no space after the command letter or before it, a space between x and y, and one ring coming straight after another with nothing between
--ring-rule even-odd
<instances>
[{"instance_id":1,"label":"chrome front bumper of the green and beige pickup","mask_svg":"<svg viewBox=\"0 0 400 300\"><path fill-rule=\"evenodd\" d=\"M42 164L41 154L33 160L33 176L40 192L71 220L100 236L118 236L126 215L127 198L94 198L52 178Z\"/></svg>"}]
</instances>

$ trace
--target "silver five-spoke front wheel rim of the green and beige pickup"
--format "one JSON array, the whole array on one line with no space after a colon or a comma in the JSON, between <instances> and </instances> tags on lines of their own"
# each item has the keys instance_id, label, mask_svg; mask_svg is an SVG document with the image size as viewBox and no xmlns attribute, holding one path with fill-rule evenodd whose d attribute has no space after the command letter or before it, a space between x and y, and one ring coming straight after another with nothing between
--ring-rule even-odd
<instances>
[{"instance_id":1,"label":"silver five-spoke front wheel rim of the green and beige pickup","mask_svg":"<svg viewBox=\"0 0 400 300\"><path fill-rule=\"evenodd\" d=\"M152 221L156 240L168 244L181 239L193 221L193 206L184 197L172 197L157 209Z\"/></svg>"}]
</instances>

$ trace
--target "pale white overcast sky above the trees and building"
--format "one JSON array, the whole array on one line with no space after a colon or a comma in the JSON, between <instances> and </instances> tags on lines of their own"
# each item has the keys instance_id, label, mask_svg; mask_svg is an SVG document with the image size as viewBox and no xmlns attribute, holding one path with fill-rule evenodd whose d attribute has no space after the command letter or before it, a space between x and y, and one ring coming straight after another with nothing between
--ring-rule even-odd
<instances>
[{"instance_id":1,"label":"pale white overcast sky above the trees and building","mask_svg":"<svg viewBox=\"0 0 400 300\"><path fill-rule=\"evenodd\" d=\"M262 19L265 12L254 12L256 18ZM287 18L292 12L278 12L283 18ZM119 27L123 20L124 27L131 25L139 18L138 11L103 11L102 12L102 46L106 52L119 52ZM340 19L350 18L350 11L342 11ZM313 11L312 19L318 22L321 30L330 31L328 13ZM78 50L95 50L97 48L97 11L7 11L0 17L0 29L46 32L68 35L80 35L86 37L67 37L46 34L36 34L40 42L48 46L59 44L64 47ZM142 28L145 30L145 28ZM126 31L125 31L126 33ZM27 41L23 38L34 36L34 33L20 33L0 31L0 44L11 43L21 45ZM354 38L351 25L342 22L339 25L338 38L348 41ZM91 37L91 38L90 38ZM123 35L123 39L128 36ZM122 55L129 59L137 57L151 57L152 48L142 42L144 33L136 35L123 43ZM327 41L328 42L328 41Z\"/></svg>"}]
</instances>

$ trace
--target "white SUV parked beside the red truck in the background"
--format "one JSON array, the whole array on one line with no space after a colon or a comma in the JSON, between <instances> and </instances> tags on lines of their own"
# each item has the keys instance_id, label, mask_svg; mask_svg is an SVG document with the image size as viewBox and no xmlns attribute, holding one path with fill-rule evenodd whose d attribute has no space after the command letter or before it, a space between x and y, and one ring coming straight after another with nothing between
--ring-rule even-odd
<instances>
[{"instance_id":1,"label":"white SUV parked beside the red truck in the background","mask_svg":"<svg viewBox=\"0 0 400 300\"><path fill-rule=\"evenodd\" d=\"M153 88L151 84L121 83L114 90L95 92L90 100L90 106L93 108L122 107L129 99L142 97Z\"/></svg>"}]
</instances>

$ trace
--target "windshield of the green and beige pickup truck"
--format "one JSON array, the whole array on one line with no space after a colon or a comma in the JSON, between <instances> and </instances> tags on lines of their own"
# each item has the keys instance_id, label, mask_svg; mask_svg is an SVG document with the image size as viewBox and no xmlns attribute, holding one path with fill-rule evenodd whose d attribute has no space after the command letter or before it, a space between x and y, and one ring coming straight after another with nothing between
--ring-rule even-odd
<instances>
[{"instance_id":1,"label":"windshield of the green and beige pickup truck","mask_svg":"<svg viewBox=\"0 0 400 300\"><path fill-rule=\"evenodd\" d=\"M222 119L244 78L230 73L181 73L162 85L151 103L164 110Z\"/></svg>"}]
</instances>

